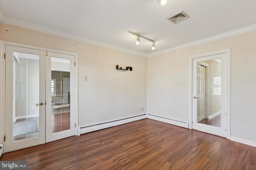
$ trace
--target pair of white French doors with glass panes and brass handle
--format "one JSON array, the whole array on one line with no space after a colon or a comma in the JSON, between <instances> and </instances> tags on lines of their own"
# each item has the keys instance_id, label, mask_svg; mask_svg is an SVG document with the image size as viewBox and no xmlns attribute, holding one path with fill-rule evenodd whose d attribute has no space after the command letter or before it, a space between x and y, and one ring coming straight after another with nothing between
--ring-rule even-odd
<instances>
[{"instance_id":1,"label":"pair of white French doors with glass panes and brass handle","mask_svg":"<svg viewBox=\"0 0 256 170\"><path fill-rule=\"evenodd\" d=\"M12 45L5 50L4 152L75 135L74 56Z\"/></svg>"}]
</instances>

